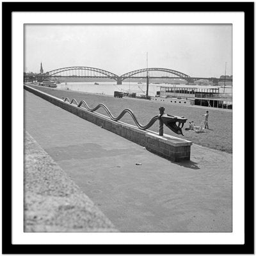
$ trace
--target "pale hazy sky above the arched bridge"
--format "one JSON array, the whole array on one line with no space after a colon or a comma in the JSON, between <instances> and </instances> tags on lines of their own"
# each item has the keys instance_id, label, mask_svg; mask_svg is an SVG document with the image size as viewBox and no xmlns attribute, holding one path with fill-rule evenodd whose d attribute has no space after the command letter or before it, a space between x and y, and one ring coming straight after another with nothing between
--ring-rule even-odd
<instances>
[{"instance_id":1,"label":"pale hazy sky above the arched bridge","mask_svg":"<svg viewBox=\"0 0 256 256\"><path fill-rule=\"evenodd\" d=\"M231 24L26 24L25 72L102 68L119 76L147 67L191 77L232 75Z\"/></svg>"}]
</instances>

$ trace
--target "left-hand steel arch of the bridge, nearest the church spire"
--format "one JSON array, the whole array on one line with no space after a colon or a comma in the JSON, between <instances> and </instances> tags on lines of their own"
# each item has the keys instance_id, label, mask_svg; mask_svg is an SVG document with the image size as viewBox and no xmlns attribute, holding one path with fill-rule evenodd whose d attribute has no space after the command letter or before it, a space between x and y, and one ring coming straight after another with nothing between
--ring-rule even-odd
<instances>
[{"instance_id":1,"label":"left-hand steel arch of the bridge, nearest the church spire","mask_svg":"<svg viewBox=\"0 0 256 256\"><path fill-rule=\"evenodd\" d=\"M78 70L78 72L77 72ZM81 72L80 72L81 71ZM93 68L93 67L64 67L51 70L49 72L45 72L41 75L43 79L47 77L56 77L60 76L61 73L65 74L68 77L109 77L111 79L117 80L118 75L109 72L107 70L101 68ZM77 76L78 74L78 76ZM65 76L65 75L64 75Z\"/></svg>"}]
</instances>

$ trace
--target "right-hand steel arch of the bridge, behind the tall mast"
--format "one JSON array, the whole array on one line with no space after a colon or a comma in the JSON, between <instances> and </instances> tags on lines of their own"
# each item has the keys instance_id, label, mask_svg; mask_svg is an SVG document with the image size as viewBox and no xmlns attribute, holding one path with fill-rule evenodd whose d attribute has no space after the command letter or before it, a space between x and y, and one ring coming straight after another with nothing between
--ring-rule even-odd
<instances>
[{"instance_id":1,"label":"right-hand steel arch of the bridge, behind the tall mast","mask_svg":"<svg viewBox=\"0 0 256 256\"><path fill-rule=\"evenodd\" d=\"M134 71L123 74L122 76L120 76L120 79L122 79L122 81L123 81L124 79L127 79L129 77L138 77L138 74L142 74L142 76L140 76L140 77L146 77L147 73L148 73L148 76L150 76L150 77L170 77L170 78L172 78L170 76L170 74L173 74L180 78L190 77L187 74L184 74L182 72L179 72L177 70L172 70L169 68L141 68L141 69L134 70ZM161 74L162 76L156 76L157 73Z\"/></svg>"}]
</instances>

